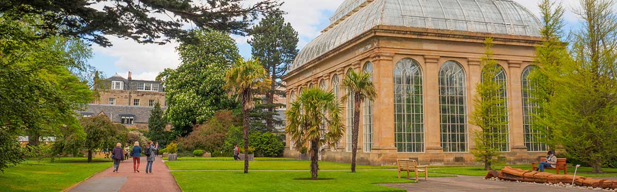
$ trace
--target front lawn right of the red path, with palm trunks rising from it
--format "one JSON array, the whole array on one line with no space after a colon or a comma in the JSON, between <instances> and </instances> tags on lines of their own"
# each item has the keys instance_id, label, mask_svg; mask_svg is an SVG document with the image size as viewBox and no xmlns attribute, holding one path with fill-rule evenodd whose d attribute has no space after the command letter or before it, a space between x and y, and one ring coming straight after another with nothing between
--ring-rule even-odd
<instances>
[{"instance_id":1,"label":"front lawn right of the red path, with palm trunks rising from it","mask_svg":"<svg viewBox=\"0 0 617 192\"><path fill-rule=\"evenodd\" d=\"M405 191L375 184L415 182L397 178L391 170L320 171L319 178L331 180L317 181L294 180L310 178L309 171L174 171L172 175L182 191Z\"/></svg>"}]
</instances>

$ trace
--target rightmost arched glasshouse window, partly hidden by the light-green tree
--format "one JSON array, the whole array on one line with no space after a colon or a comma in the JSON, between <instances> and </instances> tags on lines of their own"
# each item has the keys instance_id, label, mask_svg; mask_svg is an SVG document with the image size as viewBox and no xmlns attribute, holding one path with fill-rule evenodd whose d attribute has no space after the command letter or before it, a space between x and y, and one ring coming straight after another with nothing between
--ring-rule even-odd
<instances>
[{"instance_id":1,"label":"rightmost arched glasshouse window, partly hidden by the light-green tree","mask_svg":"<svg viewBox=\"0 0 617 192\"><path fill-rule=\"evenodd\" d=\"M536 66L529 65L521 74L521 89L523 91L523 134L524 143L527 146L527 151L547 151L549 148L542 142L542 134L537 126L534 126L534 114L538 114L540 106L534 102L533 83L529 80L529 73L536 69Z\"/></svg>"}]
</instances>

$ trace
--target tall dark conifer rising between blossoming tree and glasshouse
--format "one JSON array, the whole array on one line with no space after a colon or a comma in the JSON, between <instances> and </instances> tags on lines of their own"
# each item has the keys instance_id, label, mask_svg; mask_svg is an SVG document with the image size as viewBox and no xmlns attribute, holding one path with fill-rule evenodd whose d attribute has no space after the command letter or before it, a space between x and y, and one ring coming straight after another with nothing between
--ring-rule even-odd
<instances>
[{"instance_id":1,"label":"tall dark conifer rising between blossoming tree and glasshouse","mask_svg":"<svg viewBox=\"0 0 617 192\"><path fill-rule=\"evenodd\" d=\"M268 131L272 131L274 126L282 126L283 119L276 118L276 108L283 106L281 103L274 102L275 95L284 95L283 90L278 90L278 87L284 85L280 81L289 68L289 65L294 61L298 54L298 33L291 26L291 23L286 23L282 13L270 14L263 18L257 26L252 28L252 38L249 44L252 46L253 57L258 57L273 79L270 84L270 89L266 92L265 100L258 103L253 110L257 121L265 121L265 127ZM267 109L260 110L260 109Z\"/></svg>"}]
</instances>

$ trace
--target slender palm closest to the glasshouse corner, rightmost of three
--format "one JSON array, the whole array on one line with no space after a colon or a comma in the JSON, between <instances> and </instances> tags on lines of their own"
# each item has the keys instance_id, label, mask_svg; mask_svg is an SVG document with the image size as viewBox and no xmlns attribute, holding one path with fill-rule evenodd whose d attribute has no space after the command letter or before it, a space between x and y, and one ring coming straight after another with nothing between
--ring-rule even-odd
<instances>
[{"instance_id":1,"label":"slender palm closest to the glasshouse corner, rightmost of three","mask_svg":"<svg viewBox=\"0 0 617 192\"><path fill-rule=\"evenodd\" d=\"M355 172L355 155L358 151L358 129L360 127L360 106L365 99L373 100L377 97L375 84L371 80L370 73L355 73L349 70L341 87L347 90L347 95L341 100L346 101L349 97L354 100L354 124L352 126L352 151L351 151L351 172Z\"/></svg>"}]
</instances>

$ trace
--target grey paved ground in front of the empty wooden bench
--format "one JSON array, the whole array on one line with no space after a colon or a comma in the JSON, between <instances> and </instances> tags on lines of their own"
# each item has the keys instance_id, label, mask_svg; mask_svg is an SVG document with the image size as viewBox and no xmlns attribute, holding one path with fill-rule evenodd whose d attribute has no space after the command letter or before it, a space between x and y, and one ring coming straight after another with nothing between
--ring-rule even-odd
<instances>
[{"instance_id":1,"label":"grey paved ground in front of the empty wooden bench","mask_svg":"<svg viewBox=\"0 0 617 192\"><path fill-rule=\"evenodd\" d=\"M561 188L557 186L537 185L531 183L497 182L484 180L483 177L429 177L428 181L420 178L417 183L387 183L379 184L407 191L573 191L589 192L590 190L577 188Z\"/></svg>"}]
</instances>

